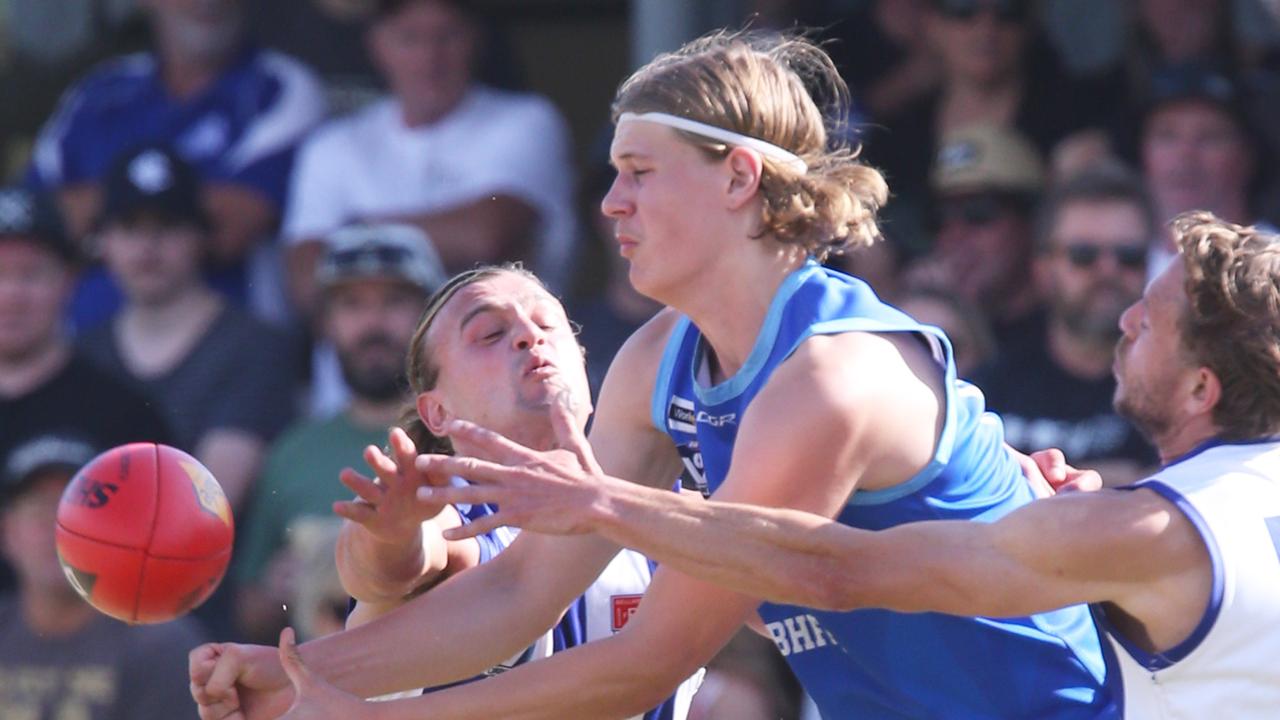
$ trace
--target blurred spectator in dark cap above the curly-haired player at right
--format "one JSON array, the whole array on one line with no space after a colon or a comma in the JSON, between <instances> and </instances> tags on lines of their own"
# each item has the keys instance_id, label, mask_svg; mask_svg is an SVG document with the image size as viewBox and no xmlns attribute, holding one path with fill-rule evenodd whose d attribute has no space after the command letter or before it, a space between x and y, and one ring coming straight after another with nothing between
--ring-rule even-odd
<instances>
[{"instance_id":1,"label":"blurred spectator in dark cap above the curly-haired player at right","mask_svg":"<svg viewBox=\"0 0 1280 720\"><path fill-rule=\"evenodd\" d=\"M1198 65L1157 73L1140 119L1140 152L1157 222L1187 210L1244 225L1258 220L1251 191L1266 146L1230 77ZM1167 241L1156 250L1149 274L1174 252Z\"/></svg>"}]
</instances>

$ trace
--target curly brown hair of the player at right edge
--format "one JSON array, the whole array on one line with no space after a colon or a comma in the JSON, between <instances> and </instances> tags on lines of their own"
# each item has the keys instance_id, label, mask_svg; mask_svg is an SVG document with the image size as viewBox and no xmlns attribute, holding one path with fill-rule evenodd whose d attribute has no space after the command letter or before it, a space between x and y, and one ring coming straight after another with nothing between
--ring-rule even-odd
<instances>
[{"instance_id":1,"label":"curly brown hair of the player at right edge","mask_svg":"<svg viewBox=\"0 0 1280 720\"><path fill-rule=\"evenodd\" d=\"M1220 437L1280 434L1280 237L1204 211L1172 229L1187 270L1179 329L1192 361L1222 383Z\"/></svg>"}]
</instances>

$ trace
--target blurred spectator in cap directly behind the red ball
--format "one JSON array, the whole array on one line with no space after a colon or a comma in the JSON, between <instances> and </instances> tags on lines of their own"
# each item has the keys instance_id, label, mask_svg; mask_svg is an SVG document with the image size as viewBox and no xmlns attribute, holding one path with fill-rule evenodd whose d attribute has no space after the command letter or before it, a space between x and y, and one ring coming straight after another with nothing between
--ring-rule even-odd
<instances>
[{"instance_id":1,"label":"blurred spectator in cap directly behind the red ball","mask_svg":"<svg viewBox=\"0 0 1280 720\"><path fill-rule=\"evenodd\" d=\"M58 562L58 501L99 448L81 434L38 434L0 465L0 546L19 580L17 594L0 596L0 717L168 720L191 702L186 656L205 641L198 624L108 618Z\"/></svg>"}]
</instances>

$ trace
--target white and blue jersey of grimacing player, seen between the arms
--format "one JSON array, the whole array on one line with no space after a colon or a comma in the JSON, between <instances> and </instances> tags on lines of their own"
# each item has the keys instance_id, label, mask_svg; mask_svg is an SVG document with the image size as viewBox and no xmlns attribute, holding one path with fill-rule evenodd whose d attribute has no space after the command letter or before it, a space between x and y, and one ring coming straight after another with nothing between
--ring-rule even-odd
<instances>
[{"instance_id":1,"label":"white and blue jersey of grimacing player, seen between the arms","mask_svg":"<svg viewBox=\"0 0 1280 720\"><path fill-rule=\"evenodd\" d=\"M458 505L456 507L463 523L472 523L494 512L489 505ZM479 536L476 539L480 542L480 561L486 562L502 552L516 539L517 534L518 530L512 528L498 528ZM553 652L617 633L639 607L640 598L653 577L653 569L654 565L645 556L623 550L591 583L591 587L573 601L573 605L568 607L554 628L527 651L495 670L507 670L521 662L547 657ZM685 720L689 715L689 703L694 693L698 692L701 676L703 671L699 670L685 680L673 696L649 712L636 716L635 720Z\"/></svg>"}]
</instances>

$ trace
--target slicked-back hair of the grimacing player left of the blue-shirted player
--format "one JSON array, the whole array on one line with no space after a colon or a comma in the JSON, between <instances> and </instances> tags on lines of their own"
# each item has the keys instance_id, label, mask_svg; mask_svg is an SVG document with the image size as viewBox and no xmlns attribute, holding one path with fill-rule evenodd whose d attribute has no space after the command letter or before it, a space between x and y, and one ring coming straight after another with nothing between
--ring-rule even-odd
<instances>
[{"instance_id":1,"label":"slicked-back hair of the grimacing player left of the blue-shirted player","mask_svg":"<svg viewBox=\"0 0 1280 720\"><path fill-rule=\"evenodd\" d=\"M440 310L448 305L449 300L460 290L503 274L518 275L547 290L547 286L543 284L543 281L538 279L538 275L530 273L518 263L507 263L502 265L484 265L458 273L440 286L440 290L435 291L426 301L422 319L417 322L417 329L413 331L413 338L408 343L406 377L408 378L408 387L412 395L408 406L401 414L399 419L399 427L413 441L419 452L453 452L453 446L449 445L448 438L442 438L431 433L417 413L417 396L429 389L435 389L435 383L440 379L440 366L434 361L433 348L428 345L426 336L430 333L431 325L435 323L435 318L439 316Z\"/></svg>"}]
</instances>

